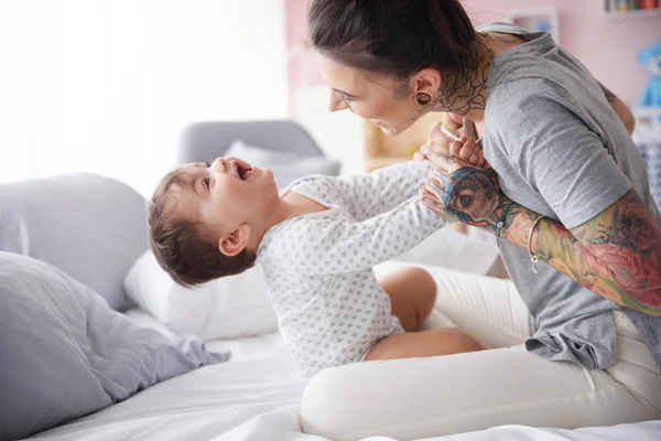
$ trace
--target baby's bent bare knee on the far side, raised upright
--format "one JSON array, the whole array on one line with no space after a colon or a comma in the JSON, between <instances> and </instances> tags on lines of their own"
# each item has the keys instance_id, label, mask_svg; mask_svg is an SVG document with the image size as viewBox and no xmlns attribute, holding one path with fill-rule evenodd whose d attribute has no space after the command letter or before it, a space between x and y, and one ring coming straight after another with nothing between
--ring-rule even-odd
<instances>
[{"instance_id":1,"label":"baby's bent bare knee on the far side, raised upright","mask_svg":"<svg viewBox=\"0 0 661 441\"><path fill-rule=\"evenodd\" d=\"M407 332L415 331L436 301L436 282L422 268L403 268L379 280L390 297L391 310Z\"/></svg>"}]
</instances>

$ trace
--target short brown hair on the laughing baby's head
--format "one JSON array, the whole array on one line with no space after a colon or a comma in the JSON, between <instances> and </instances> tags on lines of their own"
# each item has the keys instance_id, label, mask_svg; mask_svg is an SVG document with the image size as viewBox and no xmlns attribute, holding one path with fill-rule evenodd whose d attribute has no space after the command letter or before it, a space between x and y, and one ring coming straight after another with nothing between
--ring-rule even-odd
<instances>
[{"instance_id":1,"label":"short brown hair on the laughing baby's head","mask_svg":"<svg viewBox=\"0 0 661 441\"><path fill-rule=\"evenodd\" d=\"M254 265L256 255L247 249L236 256L225 256L217 239L199 220L170 213L169 192L172 184L182 184L175 170L165 175L148 206L149 241L159 265L183 287L194 287L243 272Z\"/></svg>"}]
</instances>

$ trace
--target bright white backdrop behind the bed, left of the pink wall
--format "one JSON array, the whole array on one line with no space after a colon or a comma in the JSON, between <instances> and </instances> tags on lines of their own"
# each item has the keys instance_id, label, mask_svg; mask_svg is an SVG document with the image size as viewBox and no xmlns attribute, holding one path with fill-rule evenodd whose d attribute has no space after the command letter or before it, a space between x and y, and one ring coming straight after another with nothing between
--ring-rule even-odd
<instances>
[{"instance_id":1,"label":"bright white backdrop behind the bed, left of the pink wall","mask_svg":"<svg viewBox=\"0 0 661 441\"><path fill-rule=\"evenodd\" d=\"M284 28L284 0L0 1L0 183L151 195L186 125L288 116Z\"/></svg>"}]
</instances>

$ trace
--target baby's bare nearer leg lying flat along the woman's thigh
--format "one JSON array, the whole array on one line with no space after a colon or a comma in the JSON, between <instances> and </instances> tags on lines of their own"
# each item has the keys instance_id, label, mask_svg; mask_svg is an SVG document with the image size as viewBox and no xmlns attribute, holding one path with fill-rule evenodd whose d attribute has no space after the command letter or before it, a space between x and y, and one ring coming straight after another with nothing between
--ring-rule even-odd
<instances>
[{"instance_id":1,"label":"baby's bare nearer leg lying flat along the woman's thigh","mask_svg":"<svg viewBox=\"0 0 661 441\"><path fill-rule=\"evenodd\" d=\"M459 329L440 327L389 335L373 345L365 361L433 357L484 348L475 338Z\"/></svg>"}]
</instances>

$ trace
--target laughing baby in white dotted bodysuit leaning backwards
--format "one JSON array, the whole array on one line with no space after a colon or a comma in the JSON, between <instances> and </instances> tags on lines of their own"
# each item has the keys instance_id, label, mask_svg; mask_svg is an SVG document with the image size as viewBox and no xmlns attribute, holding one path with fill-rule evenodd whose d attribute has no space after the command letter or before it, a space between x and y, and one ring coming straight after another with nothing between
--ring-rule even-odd
<instances>
[{"instance_id":1,"label":"laughing baby in white dotted bodysuit leaning backwards","mask_svg":"<svg viewBox=\"0 0 661 441\"><path fill-rule=\"evenodd\" d=\"M372 271L446 223L419 200L429 170L429 161L411 161L315 175L280 195L269 169L237 158L185 164L154 193L151 246L183 286L260 263L304 377L360 361L481 349L457 329L418 331L436 297L426 271L408 268L380 281Z\"/></svg>"}]
</instances>

